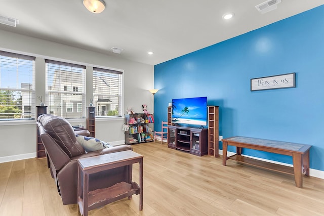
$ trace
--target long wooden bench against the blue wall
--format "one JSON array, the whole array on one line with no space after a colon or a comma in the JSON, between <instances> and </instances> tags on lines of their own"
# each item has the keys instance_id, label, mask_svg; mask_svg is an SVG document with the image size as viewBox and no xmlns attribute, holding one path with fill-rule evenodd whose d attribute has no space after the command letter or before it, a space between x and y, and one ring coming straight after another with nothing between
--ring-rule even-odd
<instances>
[{"instance_id":1,"label":"long wooden bench against the blue wall","mask_svg":"<svg viewBox=\"0 0 324 216\"><path fill-rule=\"evenodd\" d=\"M231 137L223 139L223 165L228 159L254 165L270 170L276 170L295 176L296 187L303 187L303 175L309 177L309 149L311 145L256 139L249 137ZM227 146L236 146L236 154L227 157ZM242 148L261 150L265 152L289 155L293 157L293 167L269 163L241 155Z\"/></svg>"}]
</instances>

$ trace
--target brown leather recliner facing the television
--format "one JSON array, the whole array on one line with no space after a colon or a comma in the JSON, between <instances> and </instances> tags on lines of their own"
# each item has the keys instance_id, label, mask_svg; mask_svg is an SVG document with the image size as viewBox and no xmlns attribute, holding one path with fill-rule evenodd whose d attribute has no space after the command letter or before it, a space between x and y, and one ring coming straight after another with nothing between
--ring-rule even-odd
<instances>
[{"instance_id":1,"label":"brown leather recliner facing the television","mask_svg":"<svg viewBox=\"0 0 324 216\"><path fill-rule=\"evenodd\" d=\"M133 150L121 145L87 153L77 142L71 124L64 118L43 114L37 118L37 127L64 205L77 203L77 159L112 152ZM132 183L132 165L118 167L89 176L89 191L108 188L119 182Z\"/></svg>"}]
</instances>

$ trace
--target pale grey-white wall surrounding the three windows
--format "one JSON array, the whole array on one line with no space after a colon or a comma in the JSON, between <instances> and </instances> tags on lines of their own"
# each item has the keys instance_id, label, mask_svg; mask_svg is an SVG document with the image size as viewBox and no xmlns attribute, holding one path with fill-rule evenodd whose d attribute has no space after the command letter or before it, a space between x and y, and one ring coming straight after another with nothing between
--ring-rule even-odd
<instances>
[{"instance_id":1,"label":"pale grey-white wall surrounding the three windows","mask_svg":"<svg viewBox=\"0 0 324 216\"><path fill-rule=\"evenodd\" d=\"M87 65L87 83L92 83L92 67L106 67L124 71L124 102L122 110L132 107L135 112L142 111L142 104L147 104L149 112L153 112L153 95L148 91L154 86L154 67L130 60L121 59L123 54L110 56L79 48L57 44L48 40L38 39L0 30L0 50L32 55L36 57L36 95L45 98L45 63L44 59L53 59ZM124 51L127 52L127 51ZM90 75L90 76L89 76ZM87 99L90 102L92 87L87 86ZM89 94L89 92L91 92ZM37 103L36 103L37 104ZM77 119L73 125L83 123L86 119ZM123 143L124 119L100 119L96 121L96 138L108 143ZM36 152L35 122L12 123L0 122L0 162L14 158L35 157ZM18 155L18 156L17 156Z\"/></svg>"}]
</instances>

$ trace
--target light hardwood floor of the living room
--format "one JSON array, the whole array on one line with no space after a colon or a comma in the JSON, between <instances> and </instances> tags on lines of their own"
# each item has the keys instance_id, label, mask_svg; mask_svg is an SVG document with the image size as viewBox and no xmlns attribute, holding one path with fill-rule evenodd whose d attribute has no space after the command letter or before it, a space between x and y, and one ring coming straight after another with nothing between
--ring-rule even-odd
<instances>
[{"instance_id":1,"label":"light hardwood floor of the living room","mask_svg":"<svg viewBox=\"0 0 324 216\"><path fill-rule=\"evenodd\" d=\"M144 155L144 207L123 199L89 215L324 215L324 180L294 177L211 156L169 149L164 143L133 145ZM139 183L139 166L133 181ZM77 215L63 205L45 159L0 163L0 215Z\"/></svg>"}]
</instances>

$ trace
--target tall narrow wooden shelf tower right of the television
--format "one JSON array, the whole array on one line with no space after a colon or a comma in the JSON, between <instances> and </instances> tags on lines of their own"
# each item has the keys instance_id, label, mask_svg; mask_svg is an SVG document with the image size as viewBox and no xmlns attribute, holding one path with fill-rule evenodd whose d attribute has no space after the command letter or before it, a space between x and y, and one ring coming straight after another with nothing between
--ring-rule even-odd
<instances>
[{"instance_id":1,"label":"tall narrow wooden shelf tower right of the television","mask_svg":"<svg viewBox=\"0 0 324 216\"><path fill-rule=\"evenodd\" d=\"M208 106L208 155L219 157L219 107Z\"/></svg>"}]
</instances>

